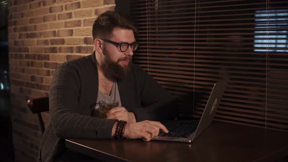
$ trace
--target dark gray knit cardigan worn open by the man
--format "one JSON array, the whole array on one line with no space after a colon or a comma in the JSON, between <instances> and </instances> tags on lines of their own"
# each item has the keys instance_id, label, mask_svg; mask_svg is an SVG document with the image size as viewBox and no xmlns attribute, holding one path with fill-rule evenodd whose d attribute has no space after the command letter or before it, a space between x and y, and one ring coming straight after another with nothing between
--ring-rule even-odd
<instances>
[{"instance_id":1,"label":"dark gray knit cardigan worn open by the man","mask_svg":"<svg viewBox=\"0 0 288 162\"><path fill-rule=\"evenodd\" d=\"M179 114L177 102L140 66L117 80L122 106L137 121L159 121ZM65 150L67 138L108 139L117 120L93 118L97 101L98 70L95 52L62 63L55 71L49 92L51 120L42 137L39 160L53 162Z\"/></svg>"}]
</instances>

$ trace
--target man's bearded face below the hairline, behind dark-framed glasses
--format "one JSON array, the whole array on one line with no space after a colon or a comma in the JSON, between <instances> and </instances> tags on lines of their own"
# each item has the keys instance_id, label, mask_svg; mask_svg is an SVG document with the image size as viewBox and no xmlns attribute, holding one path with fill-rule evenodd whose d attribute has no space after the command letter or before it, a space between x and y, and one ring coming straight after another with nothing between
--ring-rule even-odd
<instances>
[{"instance_id":1,"label":"man's bearded face below the hairline, behind dark-framed glasses","mask_svg":"<svg viewBox=\"0 0 288 162\"><path fill-rule=\"evenodd\" d=\"M135 42L132 30L116 28L112 33L110 41L115 42ZM133 51L131 47L125 52L120 52L118 48L110 43L104 42L103 47L104 67L116 78L123 79L130 73Z\"/></svg>"}]
</instances>

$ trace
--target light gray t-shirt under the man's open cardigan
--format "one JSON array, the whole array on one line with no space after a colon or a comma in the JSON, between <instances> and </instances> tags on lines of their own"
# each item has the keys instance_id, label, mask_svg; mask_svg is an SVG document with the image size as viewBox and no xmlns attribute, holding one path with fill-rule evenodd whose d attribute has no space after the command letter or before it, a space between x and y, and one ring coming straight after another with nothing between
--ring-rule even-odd
<instances>
[{"instance_id":1,"label":"light gray t-shirt under the man's open cardigan","mask_svg":"<svg viewBox=\"0 0 288 162\"><path fill-rule=\"evenodd\" d=\"M118 106L122 106L116 79L113 82L113 86L112 86L111 93L109 96L101 92L100 89L98 90L97 103L99 103L99 101L102 101L102 100L117 100L119 101ZM92 117L99 118L99 105L98 104L96 104L95 106Z\"/></svg>"}]
</instances>

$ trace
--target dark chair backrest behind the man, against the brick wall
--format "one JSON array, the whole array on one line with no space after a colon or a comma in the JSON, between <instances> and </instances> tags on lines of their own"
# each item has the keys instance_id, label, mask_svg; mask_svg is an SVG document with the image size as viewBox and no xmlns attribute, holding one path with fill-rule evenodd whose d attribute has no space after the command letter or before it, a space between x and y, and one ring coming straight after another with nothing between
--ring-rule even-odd
<instances>
[{"instance_id":1,"label":"dark chair backrest behind the man, against the brick wall","mask_svg":"<svg viewBox=\"0 0 288 162\"><path fill-rule=\"evenodd\" d=\"M44 122L41 116L41 112L49 111L49 98L41 97L29 99L27 101L27 105L33 114L38 115L39 127L41 131L41 135L43 135L45 131Z\"/></svg>"}]
</instances>

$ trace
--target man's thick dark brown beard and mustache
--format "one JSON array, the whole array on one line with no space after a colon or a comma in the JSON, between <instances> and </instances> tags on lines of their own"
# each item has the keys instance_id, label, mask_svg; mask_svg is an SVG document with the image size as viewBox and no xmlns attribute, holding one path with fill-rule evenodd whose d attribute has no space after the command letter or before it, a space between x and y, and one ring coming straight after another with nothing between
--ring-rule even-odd
<instances>
[{"instance_id":1,"label":"man's thick dark brown beard and mustache","mask_svg":"<svg viewBox=\"0 0 288 162\"><path fill-rule=\"evenodd\" d=\"M117 62L113 62L108 52L104 49L103 54L105 55L104 60L104 67L106 70L110 72L115 78L117 79L124 79L126 78L131 72L131 61L132 57L124 57L118 59ZM129 59L127 65L121 66L119 64L120 61Z\"/></svg>"}]
</instances>

